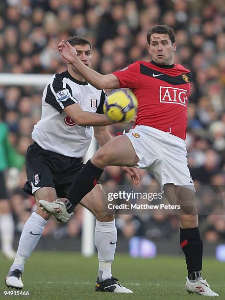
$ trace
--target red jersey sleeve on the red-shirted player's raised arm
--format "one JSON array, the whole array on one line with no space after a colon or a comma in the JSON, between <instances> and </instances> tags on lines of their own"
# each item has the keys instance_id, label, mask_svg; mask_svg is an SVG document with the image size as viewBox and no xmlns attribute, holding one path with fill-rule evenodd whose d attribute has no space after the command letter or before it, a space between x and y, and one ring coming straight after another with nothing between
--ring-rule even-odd
<instances>
[{"instance_id":1,"label":"red jersey sleeve on the red-shirted player's raised arm","mask_svg":"<svg viewBox=\"0 0 225 300\"><path fill-rule=\"evenodd\" d=\"M138 87L140 78L140 63L135 62L123 70L113 72L120 81L119 88L135 89Z\"/></svg>"}]
</instances>

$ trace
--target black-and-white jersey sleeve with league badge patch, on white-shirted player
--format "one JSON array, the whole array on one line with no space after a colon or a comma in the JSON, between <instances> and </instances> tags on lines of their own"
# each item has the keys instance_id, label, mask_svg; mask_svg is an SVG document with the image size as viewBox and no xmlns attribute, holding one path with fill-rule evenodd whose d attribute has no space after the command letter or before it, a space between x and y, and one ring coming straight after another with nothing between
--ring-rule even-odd
<instances>
[{"instance_id":1,"label":"black-and-white jersey sleeve with league badge patch, on white-shirted player","mask_svg":"<svg viewBox=\"0 0 225 300\"><path fill-rule=\"evenodd\" d=\"M72 89L60 74L56 74L48 85L45 101L53 106L60 114L64 108L78 103L72 95Z\"/></svg>"}]
</instances>

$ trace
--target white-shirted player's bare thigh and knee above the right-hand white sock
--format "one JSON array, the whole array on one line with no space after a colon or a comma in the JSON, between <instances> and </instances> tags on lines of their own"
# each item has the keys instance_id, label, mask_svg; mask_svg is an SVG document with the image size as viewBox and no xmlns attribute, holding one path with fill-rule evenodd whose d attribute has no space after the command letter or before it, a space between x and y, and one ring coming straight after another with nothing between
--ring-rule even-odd
<instances>
[{"instance_id":1,"label":"white-shirted player's bare thigh and knee above the right-hand white sock","mask_svg":"<svg viewBox=\"0 0 225 300\"><path fill-rule=\"evenodd\" d=\"M80 202L86 207L100 222L110 222L114 220L114 211L108 208L106 195L101 184L96 184Z\"/></svg>"}]
</instances>

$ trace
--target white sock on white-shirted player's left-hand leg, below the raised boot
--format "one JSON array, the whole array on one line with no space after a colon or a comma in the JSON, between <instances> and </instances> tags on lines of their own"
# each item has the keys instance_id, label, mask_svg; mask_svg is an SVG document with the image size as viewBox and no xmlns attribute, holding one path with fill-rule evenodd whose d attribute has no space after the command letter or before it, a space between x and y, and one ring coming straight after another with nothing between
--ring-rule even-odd
<instances>
[{"instance_id":1,"label":"white sock on white-shirted player's left-hand leg, below the raised boot","mask_svg":"<svg viewBox=\"0 0 225 300\"><path fill-rule=\"evenodd\" d=\"M24 271L25 261L36 247L47 222L35 212L32 213L24 225L16 257L10 271L15 269Z\"/></svg>"}]
</instances>

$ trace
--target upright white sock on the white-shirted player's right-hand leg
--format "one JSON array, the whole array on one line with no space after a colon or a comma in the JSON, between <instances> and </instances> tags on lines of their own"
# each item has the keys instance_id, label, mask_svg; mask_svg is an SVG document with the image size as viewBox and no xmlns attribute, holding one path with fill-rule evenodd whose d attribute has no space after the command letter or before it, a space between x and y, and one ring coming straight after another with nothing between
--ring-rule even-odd
<instances>
[{"instance_id":1,"label":"upright white sock on the white-shirted player's right-hand leg","mask_svg":"<svg viewBox=\"0 0 225 300\"><path fill-rule=\"evenodd\" d=\"M115 220L111 222L100 222L96 220L95 245L98 250L99 257L100 281L112 276L111 264L114 260L116 240L117 229L115 226Z\"/></svg>"}]
</instances>

